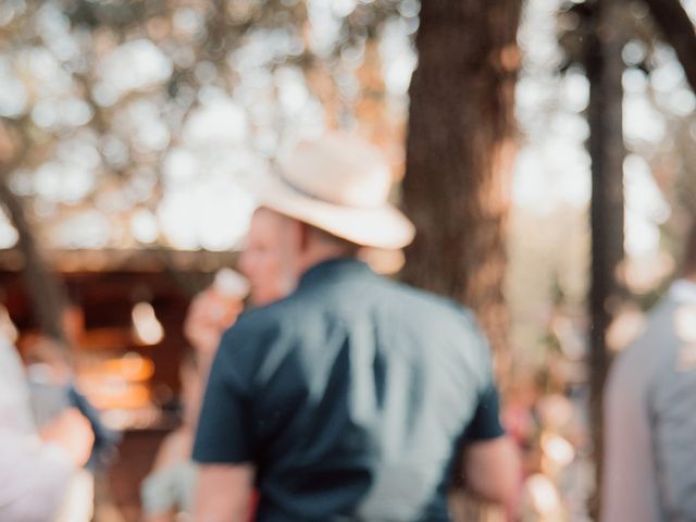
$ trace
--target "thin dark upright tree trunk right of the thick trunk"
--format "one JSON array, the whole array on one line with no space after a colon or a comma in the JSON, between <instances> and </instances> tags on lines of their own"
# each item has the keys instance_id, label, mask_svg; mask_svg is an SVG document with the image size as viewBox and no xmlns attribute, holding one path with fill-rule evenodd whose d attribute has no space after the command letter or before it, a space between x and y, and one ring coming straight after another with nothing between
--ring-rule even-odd
<instances>
[{"instance_id":1,"label":"thin dark upright tree trunk right of the thick trunk","mask_svg":"<svg viewBox=\"0 0 696 522\"><path fill-rule=\"evenodd\" d=\"M617 0L597 0L592 4L594 30L589 37L586 72L589 79L588 150L592 158L592 319L591 422L597 464L597 494L591 506L599 510L602 461L602 395L609 366L606 335L622 300L618 270L623 260L623 88L621 76L623 38Z\"/></svg>"}]
</instances>

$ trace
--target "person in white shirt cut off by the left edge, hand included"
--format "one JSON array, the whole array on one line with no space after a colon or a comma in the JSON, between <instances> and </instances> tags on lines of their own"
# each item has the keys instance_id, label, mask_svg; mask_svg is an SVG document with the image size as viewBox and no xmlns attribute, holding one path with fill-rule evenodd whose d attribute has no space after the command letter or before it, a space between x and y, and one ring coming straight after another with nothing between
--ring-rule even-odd
<instances>
[{"instance_id":1,"label":"person in white shirt cut off by the left edge, hand included","mask_svg":"<svg viewBox=\"0 0 696 522\"><path fill-rule=\"evenodd\" d=\"M74 522L73 478L92 443L89 421L74 408L37 430L21 359L0 334L0 520Z\"/></svg>"}]
</instances>

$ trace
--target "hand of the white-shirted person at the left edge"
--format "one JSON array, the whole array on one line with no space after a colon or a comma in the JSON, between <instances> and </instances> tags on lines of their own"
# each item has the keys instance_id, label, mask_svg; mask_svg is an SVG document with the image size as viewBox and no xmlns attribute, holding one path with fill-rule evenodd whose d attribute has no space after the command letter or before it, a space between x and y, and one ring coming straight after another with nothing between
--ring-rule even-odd
<instances>
[{"instance_id":1,"label":"hand of the white-shirted person at the left edge","mask_svg":"<svg viewBox=\"0 0 696 522\"><path fill-rule=\"evenodd\" d=\"M64 410L41 427L39 435L46 443L61 447L82 468L89 460L95 433L89 421L75 408Z\"/></svg>"}]
</instances>

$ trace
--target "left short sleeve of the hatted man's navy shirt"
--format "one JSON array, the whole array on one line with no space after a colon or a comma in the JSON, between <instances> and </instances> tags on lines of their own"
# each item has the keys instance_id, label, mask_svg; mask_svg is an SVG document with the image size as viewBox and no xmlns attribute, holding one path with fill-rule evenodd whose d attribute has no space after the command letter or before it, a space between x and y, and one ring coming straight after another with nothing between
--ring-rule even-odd
<instances>
[{"instance_id":1,"label":"left short sleeve of the hatted man's navy shirt","mask_svg":"<svg viewBox=\"0 0 696 522\"><path fill-rule=\"evenodd\" d=\"M251 398L236 366L248 350L239 350L235 327L223 337L210 370L198 420L194 460L201 463L241 463L253 460Z\"/></svg>"}]
</instances>

